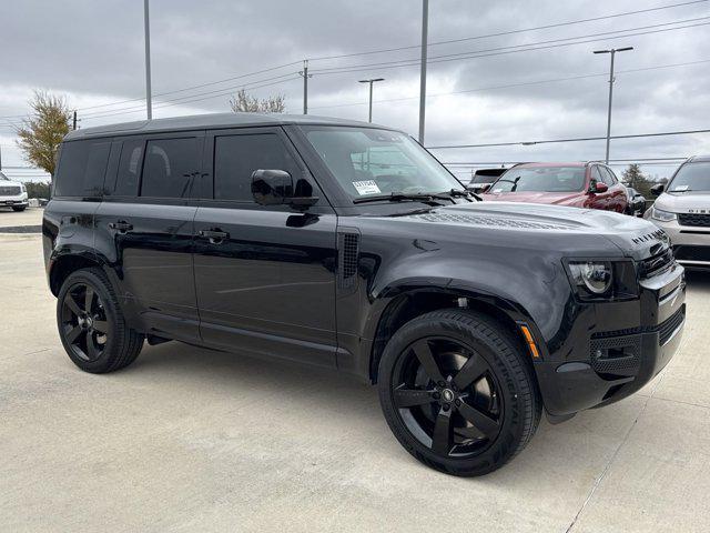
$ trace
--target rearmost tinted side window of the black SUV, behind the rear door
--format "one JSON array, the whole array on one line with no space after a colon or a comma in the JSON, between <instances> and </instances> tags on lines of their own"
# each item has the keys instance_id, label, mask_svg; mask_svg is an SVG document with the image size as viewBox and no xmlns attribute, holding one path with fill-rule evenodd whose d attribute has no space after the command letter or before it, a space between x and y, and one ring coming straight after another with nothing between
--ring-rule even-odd
<instances>
[{"instance_id":1,"label":"rearmost tinted side window of the black SUV, behind the rear door","mask_svg":"<svg viewBox=\"0 0 710 533\"><path fill-rule=\"evenodd\" d=\"M62 144L54 194L100 195L110 151L110 141L73 141Z\"/></svg>"}]
</instances>

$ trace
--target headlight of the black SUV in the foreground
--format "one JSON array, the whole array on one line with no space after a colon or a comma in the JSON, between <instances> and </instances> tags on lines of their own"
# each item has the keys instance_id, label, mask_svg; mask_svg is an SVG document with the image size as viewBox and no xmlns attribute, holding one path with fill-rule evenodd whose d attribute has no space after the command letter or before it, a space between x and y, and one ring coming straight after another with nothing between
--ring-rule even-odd
<instances>
[{"instance_id":1,"label":"headlight of the black SUV in the foreground","mask_svg":"<svg viewBox=\"0 0 710 533\"><path fill-rule=\"evenodd\" d=\"M636 266L630 259L569 260L567 272L582 301L629 300L638 296Z\"/></svg>"}]
</instances>

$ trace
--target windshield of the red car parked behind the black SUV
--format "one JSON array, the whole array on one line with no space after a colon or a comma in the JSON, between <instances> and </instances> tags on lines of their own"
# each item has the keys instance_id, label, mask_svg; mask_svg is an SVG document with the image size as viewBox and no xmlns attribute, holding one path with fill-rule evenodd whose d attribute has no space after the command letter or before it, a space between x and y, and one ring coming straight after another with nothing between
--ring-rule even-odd
<instances>
[{"instance_id":1,"label":"windshield of the red car parked behind the black SUV","mask_svg":"<svg viewBox=\"0 0 710 533\"><path fill-rule=\"evenodd\" d=\"M510 169L491 192L576 192L585 187L584 167L528 167Z\"/></svg>"}]
</instances>

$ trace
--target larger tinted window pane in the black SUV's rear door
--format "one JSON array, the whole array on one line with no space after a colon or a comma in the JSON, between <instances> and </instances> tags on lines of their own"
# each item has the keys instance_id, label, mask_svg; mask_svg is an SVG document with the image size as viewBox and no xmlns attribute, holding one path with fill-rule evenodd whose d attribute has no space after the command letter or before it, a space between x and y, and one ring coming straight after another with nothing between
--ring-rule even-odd
<instances>
[{"instance_id":1,"label":"larger tinted window pane in the black SUV's rear door","mask_svg":"<svg viewBox=\"0 0 710 533\"><path fill-rule=\"evenodd\" d=\"M148 141L141 197L185 198L192 174L199 169L196 139Z\"/></svg>"}]
</instances>

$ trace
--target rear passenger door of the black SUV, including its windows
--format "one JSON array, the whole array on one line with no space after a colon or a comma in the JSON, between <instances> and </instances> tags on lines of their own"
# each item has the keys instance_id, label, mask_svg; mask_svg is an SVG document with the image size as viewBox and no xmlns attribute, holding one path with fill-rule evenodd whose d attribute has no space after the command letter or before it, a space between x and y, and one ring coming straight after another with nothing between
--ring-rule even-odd
<instances>
[{"instance_id":1,"label":"rear passenger door of the black SUV, including its windows","mask_svg":"<svg viewBox=\"0 0 710 533\"><path fill-rule=\"evenodd\" d=\"M116 139L97 211L121 296L153 334L185 341L200 338L190 194L203 143L202 131Z\"/></svg>"}]
</instances>

